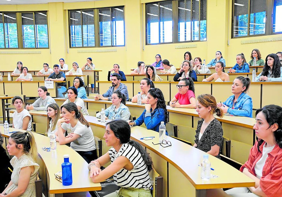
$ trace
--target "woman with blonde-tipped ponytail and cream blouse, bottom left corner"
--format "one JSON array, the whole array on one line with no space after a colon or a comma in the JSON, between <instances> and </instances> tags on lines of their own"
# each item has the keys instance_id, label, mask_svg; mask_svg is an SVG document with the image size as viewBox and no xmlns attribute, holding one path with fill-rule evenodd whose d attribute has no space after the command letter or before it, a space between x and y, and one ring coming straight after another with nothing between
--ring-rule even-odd
<instances>
[{"instance_id":1,"label":"woman with blonde-tipped ponytail and cream blouse, bottom left corner","mask_svg":"<svg viewBox=\"0 0 282 197\"><path fill-rule=\"evenodd\" d=\"M35 181L39 165L35 163L38 153L32 132L12 133L7 149L9 155L14 155L10 161L14 170L10 183L0 196L36 196Z\"/></svg>"}]
</instances>

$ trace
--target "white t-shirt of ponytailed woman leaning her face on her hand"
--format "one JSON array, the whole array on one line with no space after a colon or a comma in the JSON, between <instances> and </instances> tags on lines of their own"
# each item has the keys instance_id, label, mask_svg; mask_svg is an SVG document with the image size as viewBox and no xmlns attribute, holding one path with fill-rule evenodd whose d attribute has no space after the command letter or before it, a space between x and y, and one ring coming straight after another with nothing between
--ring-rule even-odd
<instances>
[{"instance_id":1,"label":"white t-shirt of ponytailed woman leaning her face on her hand","mask_svg":"<svg viewBox=\"0 0 282 197\"><path fill-rule=\"evenodd\" d=\"M76 126L72 127L71 124L63 123L61 127L64 130L70 130L72 133L80 135L79 138L70 142L70 147L75 151L92 151L96 149L94 135L91 127L87 127L80 121L77 121Z\"/></svg>"}]
</instances>

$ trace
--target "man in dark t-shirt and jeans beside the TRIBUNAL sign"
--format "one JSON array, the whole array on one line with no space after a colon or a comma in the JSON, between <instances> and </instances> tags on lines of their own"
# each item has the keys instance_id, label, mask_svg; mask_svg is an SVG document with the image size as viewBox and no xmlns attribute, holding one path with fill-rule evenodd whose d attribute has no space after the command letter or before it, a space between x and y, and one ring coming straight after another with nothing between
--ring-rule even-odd
<instances>
[{"instance_id":1,"label":"man in dark t-shirt and jeans beside the TRIBUNAL sign","mask_svg":"<svg viewBox=\"0 0 282 197\"><path fill-rule=\"evenodd\" d=\"M55 64L53 68L54 73L50 74L49 77L45 79L45 81L65 81L62 83L58 83L58 97L64 98L63 92L67 91L66 75L65 73L60 71L60 67L58 64Z\"/></svg>"}]
</instances>

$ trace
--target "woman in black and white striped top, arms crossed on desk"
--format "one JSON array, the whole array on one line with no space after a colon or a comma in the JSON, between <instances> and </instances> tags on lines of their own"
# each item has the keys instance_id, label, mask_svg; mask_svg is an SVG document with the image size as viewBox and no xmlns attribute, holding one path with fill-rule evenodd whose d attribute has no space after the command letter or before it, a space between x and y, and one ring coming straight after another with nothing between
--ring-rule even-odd
<instances>
[{"instance_id":1,"label":"woman in black and white striped top, arms crossed on desk","mask_svg":"<svg viewBox=\"0 0 282 197\"><path fill-rule=\"evenodd\" d=\"M104 138L111 148L88 165L90 177L94 183L115 177L114 183L121 189L107 196L152 197L149 177L152 158L138 142L130 140L130 133L131 129L124 120L107 122ZM111 164L101 171L100 167L108 162Z\"/></svg>"}]
</instances>

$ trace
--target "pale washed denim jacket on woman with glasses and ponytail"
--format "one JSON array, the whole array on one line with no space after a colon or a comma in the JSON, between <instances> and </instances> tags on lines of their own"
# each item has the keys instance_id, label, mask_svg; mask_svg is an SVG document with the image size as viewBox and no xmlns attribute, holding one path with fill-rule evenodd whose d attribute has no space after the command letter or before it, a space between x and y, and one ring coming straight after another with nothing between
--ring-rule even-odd
<instances>
[{"instance_id":1,"label":"pale washed denim jacket on woman with glasses and ponytail","mask_svg":"<svg viewBox=\"0 0 282 197\"><path fill-rule=\"evenodd\" d=\"M120 103L120 107L116 111L116 106L111 105L109 108L105 109L105 115L110 120L114 119L122 119L122 120L129 120L130 118L130 111L127 106L125 106L123 103ZM97 118L101 117L101 112L96 114Z\"/></svg>"}]
</instances>

